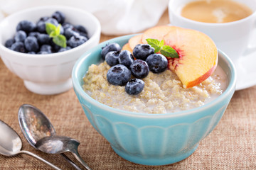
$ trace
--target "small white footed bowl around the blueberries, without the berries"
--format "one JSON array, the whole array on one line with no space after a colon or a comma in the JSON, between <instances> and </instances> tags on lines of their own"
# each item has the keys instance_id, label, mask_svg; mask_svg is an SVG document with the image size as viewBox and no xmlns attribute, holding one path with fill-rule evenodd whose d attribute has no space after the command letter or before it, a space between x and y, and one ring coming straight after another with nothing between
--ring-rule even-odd
<instances>
[{"instance_id":1,"label":"small white footed bowl around the blueberries, without the berries","mask_svg":"<svg viewBox=\"0 0 256 170\"><path fill-rule=\"evenodd\" d=\"M51 16L55 11L65 14L65 21L82 25L87 29L89 40L65 52L48 55L30 55L15 52L4 46L13 38L18 22L36 21ZM26 88L36 94L60 94L72 88L71 72L76 60L100 42L100 22L87 11L68 6L40 6L11 14L0 23L0 55L6 67L23 79Z\"/></svg>"}]
</instances>

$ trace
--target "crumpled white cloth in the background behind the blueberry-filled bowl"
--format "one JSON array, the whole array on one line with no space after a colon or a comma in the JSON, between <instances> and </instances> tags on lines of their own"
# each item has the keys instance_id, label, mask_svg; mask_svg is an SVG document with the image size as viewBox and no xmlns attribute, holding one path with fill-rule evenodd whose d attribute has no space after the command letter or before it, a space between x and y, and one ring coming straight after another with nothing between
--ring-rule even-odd
<instances>
[{"instance_id":1,"label":"crumpled white cloth in the background behind the blueberry-filled bowl","mask_svg":"<svg viewBox=\"0 0 256 170\"><path fill-rule=\"evenodd\" d=\"M82 8L100 21L102 33L124 35L155 26L169 0L0 0L0 19L24 8L63 5Z\"/></svg>"}]
</instances>

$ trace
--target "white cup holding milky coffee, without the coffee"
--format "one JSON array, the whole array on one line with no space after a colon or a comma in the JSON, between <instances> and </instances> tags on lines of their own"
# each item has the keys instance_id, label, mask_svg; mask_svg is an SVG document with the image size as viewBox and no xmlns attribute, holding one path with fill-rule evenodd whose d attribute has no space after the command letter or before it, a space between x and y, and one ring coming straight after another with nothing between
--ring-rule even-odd
<instances>
[{"instance_id":1,"label":"white cup holding milky coffee, without the coffee","mask_svg":"<svg viewBox=\"0 0 256 170\"><path fill-rule=\"evenodd\" d=\"M256 51L256 47L249 45L253 30L256 28L255 0L233 0L250 7L252 14L239 21L230 23L203 23L181 16L181 9L191 1L196 0L169 1L169 19L171 25L191 28L206 33L206 35L213 39L218 49L225 52L235 64L240 57Z\"/></svg>"}]
</instances>

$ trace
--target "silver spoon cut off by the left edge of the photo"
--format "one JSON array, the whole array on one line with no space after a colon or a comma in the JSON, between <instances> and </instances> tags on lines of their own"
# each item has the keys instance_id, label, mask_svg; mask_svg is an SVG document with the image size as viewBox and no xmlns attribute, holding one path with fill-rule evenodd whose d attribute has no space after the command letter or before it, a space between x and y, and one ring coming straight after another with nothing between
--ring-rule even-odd
<instances>
[{"instance_id":1,"label":"silver spoon cut off by the left edge of the photo","mask_svg":"<svg viewBox=\"0 0 256 170\"><path fill-rule=\"evenodd\" d=\"M21 137L19 137L18 134L2 120L0 120L0 134L0 154L3 154L7 157L13 157L16 154L28 154L40 160L41 162L48 164L49 166L53 167L53 169L61 170L57 166L46 161L45 159L38 157L36 154L21 150Z\"/></svg>"}]
</instances>

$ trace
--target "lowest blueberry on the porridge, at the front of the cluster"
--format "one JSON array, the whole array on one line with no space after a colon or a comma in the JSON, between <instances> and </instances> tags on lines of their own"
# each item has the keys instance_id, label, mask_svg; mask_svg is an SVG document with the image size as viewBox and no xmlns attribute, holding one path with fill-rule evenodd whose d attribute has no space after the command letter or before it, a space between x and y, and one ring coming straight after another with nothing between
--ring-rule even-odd
<instances>
[{"instance_id":1,"label":"lowest blueberry on the porridge, at the front of the cluster","mask_svg":"<svg viewBox=\"0 0 256 170\"><path fill-rule=\"evenodd\" d=\"M129 95L137 95L144 89L144 81L142 79L130 79L125 85L125 91Z\"/></svg>"}]
</instances>

